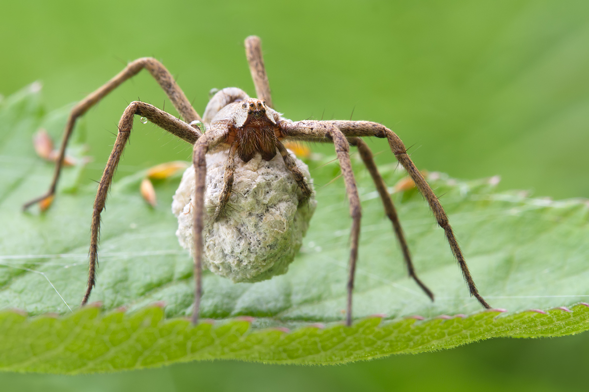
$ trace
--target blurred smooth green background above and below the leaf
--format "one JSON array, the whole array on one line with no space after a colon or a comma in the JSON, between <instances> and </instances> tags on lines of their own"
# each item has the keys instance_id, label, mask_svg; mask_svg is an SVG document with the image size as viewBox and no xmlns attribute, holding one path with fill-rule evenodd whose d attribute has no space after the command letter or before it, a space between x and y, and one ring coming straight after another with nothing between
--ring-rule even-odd
<instances>
[{"instance_id":1,"label":"blurred smooth green background above and below the leaf","mask_svg":"<svg viewBox=\"0 0 589 392\"><path fill-rule=\"evenodd\" d=\"M418 167L535 196L589 197L589 2L25 1L0 6L0 93L33 81L48 110L83 98L141 56L177 77L202 113L211 88L254 95L243 39L262 38L276 109L294 120L374 120ZM85 116L98 179L131 100L166 96L141 73ZM175 113L170 102L166 109ZM152 125L121 172L188 159ZM380 163L393 157L370 145ZM329 146L311 146L329 152ZM45 185L43 185L44 187ZM589 334L496 339L337 367L178 364L92 376L0 374L2 390L587 390Z\"/></svg>"}]
</instances>

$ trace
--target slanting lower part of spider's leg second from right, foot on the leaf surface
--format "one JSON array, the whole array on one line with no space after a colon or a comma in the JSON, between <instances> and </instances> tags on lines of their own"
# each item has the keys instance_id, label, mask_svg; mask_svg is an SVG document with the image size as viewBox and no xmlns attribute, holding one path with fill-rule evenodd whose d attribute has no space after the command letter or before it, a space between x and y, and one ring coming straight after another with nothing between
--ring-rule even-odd
<instances>
[{"instance_id":1,"label":"slanting lower part of spider's leg second from right, foot on the leaf surface","mask_svg":"<svg viewBox=\"0 0 589 392\"><path fill-rule=\"evenodd\" d=\"M425 284L423 284L423 282L421 282L421 280L415 274L415 269L413 268L413 263L411 261L411 253L409 253L409 246L405 241L405 235L403 234L403 229L401 228L401 222L399 222L399 216L397 215L395 205L393 205L393 200L391 200L391 195L389 195L388 190L386 190L386 184L380 176L378 168L376 167L374 159L372 158L372 152L370 151L370 148L366 142L360 138L349 138L348 141L352 146L356 146L358 148L360 157L362 158L366 169L368 169L368 172L372 177L372 180L376 186L376 190L378 190L382 204L385 207L386 216L388 216L391 220L396 237L399 240L399 246L401 246L401 251L403 252L403 257L405 259L409 276L415 280L415 283L417 283L423 292L425 292L425 294L427 294L427 296L433 301L434 293L432 293L431 290L429 290L428 287L425 286Z\"/></svg>"}]
</instances>

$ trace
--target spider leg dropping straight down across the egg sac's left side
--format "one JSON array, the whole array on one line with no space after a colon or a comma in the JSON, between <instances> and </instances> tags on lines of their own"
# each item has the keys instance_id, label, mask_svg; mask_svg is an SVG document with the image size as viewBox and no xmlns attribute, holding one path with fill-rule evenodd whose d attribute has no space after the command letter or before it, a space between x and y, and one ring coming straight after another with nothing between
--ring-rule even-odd
<instances>
[{"instance_id":1,"label":"spider leg dropping straight down across the egg sac's left side","mask_svg":"<svg viewBox=\"0 0 589 392\"><path fill-rule=\"evenodd\" d=\"M204 192L206 191L207 162L205 155L209 149L219 145L227 139L227 129L209 129L194 143L193 165L196 174L194 187L194 310L192 323L198 323L200 314L200 299L203 295L203 219Z\"/></svg>"}]
</instances>

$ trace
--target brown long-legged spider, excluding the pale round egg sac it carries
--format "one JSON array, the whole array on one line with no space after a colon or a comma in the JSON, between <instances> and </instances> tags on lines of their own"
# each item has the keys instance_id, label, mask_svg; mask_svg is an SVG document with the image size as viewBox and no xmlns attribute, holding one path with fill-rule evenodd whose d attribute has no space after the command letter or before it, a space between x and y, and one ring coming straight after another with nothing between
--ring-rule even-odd
<instances>
[{"instance_id":1,"label":"brown long-legged spider, excluding the pale round egg sac it carries","mask_svg":"<svg viewBox=\"0 0 589 392\"><path fill-rule=\"evenodd\" d=\"M91 242L90 242L90 260L88 272L88 286L82 299L82 306L87 303L88 297L96 282L96 266L98 252L98 233L100 230L100 215L105 206L108 189L112 182L112 177L117 169L118 162L121 158L127 140L133 128L133 119L135 115L143 116L160 126L164 130L176 135L178 138L186 140L193 145L193 166L196 175L195 192L192 196L191 206L194 207L193 223L193 240L194 240L194 308L192 321L198 323L200 313L200 300L202 296L201 275L203 262L203 216L204 212L204 193L206 190L206 157L207 152L228 151L228 160L224 175L223 190L219 197L219 203L214 212L214 219L222 219L226 214L227 202L233 186L233 174L235 167L233 159L239 156L244 162L248 162L255 155L260 154L262 159L269 161L280 153L283 158L284 166L292 174L297 186L302 193L302 200L305 203L312 196L312 189L297 167L292 156L287 152L283 145L284 140L302 140L313 142L333 143L335 146L337 159L345 181L346 193L349 199L350 216L352 217L352 229L350 233L350 256L349 256L349 275L347 284L347 303L346 303L346 325L352 324L352 291L354 286L354 274L356 270L356 260L358 259L358 240L360 234L360 218L362 216L360 209L360 199L358 189L352 172L352 163L349 156L349 146L358 148L360 157L372 176L376 189L382 200L386 216L391 220L393 230L395 231L399 245L403 253L409 276L415 280L416 284L427 294L433 301L434 294L427 286L417 277L409 248L403 236L401 224L398 215L393 206L391 196L386 189L385 182L380 176L378 169L372 157L372 152L368 145L362 140L364 136L375 136L376 138L385 138L395 154L396 159L405 167L409 176L418 187L422 195L427 200L429 207L434 213L434 217L439 226L444 229L446 239L462 271L462 276L468 285L471 296L474 296L479 303L486 309L490 306L478 293L471 273L466 266L462 251L458 245L452 227L448 223L448 216L444 212L438 198L435 196L431 187L423 178L419 170L416 169L411 158L406 152L405 146L399 137L386 128L386 126L368 121L345 121L345 120L303 120L293 122L283 118L281 113L273 109L272 97L270 96L270 86L268 83L266 69L262 58L262 47L260 39L257 36L249 36L245 40L246 56L252 72L253 82L256 88L258 98L249 98L246 93L237 88L226 88L213 96L207 109L204 112L203 119L209 122L209 126L203 130L199 128L202 125L201 117L191 106L190 102L184 95L184 92L174 81L174 78L167 69L153 58L140 58L129 63L123 71L114 76L101 88L88 95L74 109L72 109L65 126L64 137L61 148L59 149L59 158L55 166L54 177L51 186L45 195L31 200L24 205L24 209L35 203L51 203L54 197L55 188L59 180L62 166L64 165L65 148L70 139L72 129L78 117L84 115L88 109L94 106L104 96L117 88L127 79L136 75L141 69L147 69L159 83L161 88L166 91L174 107L178 110L183 120L177 119L163 110L155 108L145 102L131 102L125 109L123 116L118 124L118 134L115 144L112 148L110 158L102 174L98 185L97 195L94 201L94 210L92 212L91 223Z\"/></svg>"}]
</instances>

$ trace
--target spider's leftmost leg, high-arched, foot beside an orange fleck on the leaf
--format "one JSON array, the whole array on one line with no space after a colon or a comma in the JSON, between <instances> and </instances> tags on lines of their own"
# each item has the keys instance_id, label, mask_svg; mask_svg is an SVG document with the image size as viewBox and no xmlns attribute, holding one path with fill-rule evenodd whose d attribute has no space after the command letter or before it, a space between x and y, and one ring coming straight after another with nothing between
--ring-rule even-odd
<instances>
[{"instance_id":1,"label":"spider's leftmost leg, high-arched, foot beside an orange fleck on the leaf","mask_svg":"<svg viewBox=\"0 0 589 392\"><path fill-rule=\"evenodd\" d=\"M149 71L154 79L160 84L161 88L166 91L166 94L172 101L174 108L178 110L178 113L180 113L186 122L190 123L194 120L200 120L200 116L198 116L196 110L194 110L194 108L190 105L190 101L188 101L188 98L186 98L184 92L176 84L173 76L170 74L170 72L168 72L162 63L154 58L149 57L140 58L129 63L125 69L123 69L123 71L114 76L114 78L108 81L101 88L82 99L76 106L74 106L74 109L71 110L70 116L68 117L68 122L65 125L64 136L61 140L59 158L56 161L55 172L51 186L49 186L49 190L44 195L25 203L22 206L24 210L34 205L35 203L41 202L41 200L47 199L48 197L51 197L55 194L55 189L57 188L57 183L59 181L59 175L61 174L61 169L64 163L65 148L68 145L72 130L74 129L74 125L78 117L84 115L88 109L98 103L108 93L120 86L127 79L137 75L137 73L139 73L143 68L147 69L147 71Z\"/></svg>"}]
</instances>

